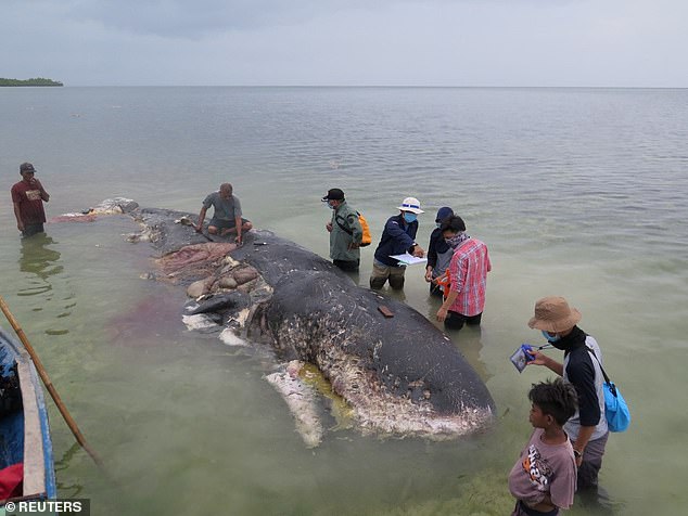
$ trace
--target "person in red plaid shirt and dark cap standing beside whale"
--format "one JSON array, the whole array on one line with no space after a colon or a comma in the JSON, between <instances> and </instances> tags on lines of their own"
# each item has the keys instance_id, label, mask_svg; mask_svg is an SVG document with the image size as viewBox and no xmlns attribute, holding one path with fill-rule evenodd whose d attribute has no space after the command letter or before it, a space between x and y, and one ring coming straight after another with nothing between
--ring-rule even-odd
<instances>
[{"instance_id":1,"label":"person in red plaid shirt and dark cap standing beside whale","mask_svg":"<svg viewBox=\"0 0 688 516\"><path fill-rule=\"evenodd\" d=\"M454 248L454 256L447 270L449 295L437 310L437 321L444 321L450 330L461 330L464 323L477 326L485 308L487 273L492 270L487 246L466 234L461 217L446 219L441 230Z\"/></svg>"}]
</instances>

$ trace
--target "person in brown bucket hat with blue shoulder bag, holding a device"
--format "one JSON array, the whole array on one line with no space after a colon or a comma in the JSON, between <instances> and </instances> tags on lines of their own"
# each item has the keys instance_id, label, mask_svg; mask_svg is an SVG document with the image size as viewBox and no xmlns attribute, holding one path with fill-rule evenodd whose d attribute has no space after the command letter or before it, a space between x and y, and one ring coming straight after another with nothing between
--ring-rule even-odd
<instances>
[{"instance_id":1,"label":"person in brown bucket hat with blue shoulder bag, holding a device","mask_svg":"<svg viewBox=\"0 0 688 516\"><path fill-rule=\"evenodd\" d=\"M604 377L601 371L602 352L597 340L577 324L582 315L566 299L548 296L535 304L528 326L543 332L555 348L564 351L563 363L533 350L531 365L545 365L571 383L578 395L578 411L564 425L576 457L577 492L593 502L598 495L598 474L609 438L604 418ZM593 357L595 353L595 357Z\"/></svg>"}]
</instances>

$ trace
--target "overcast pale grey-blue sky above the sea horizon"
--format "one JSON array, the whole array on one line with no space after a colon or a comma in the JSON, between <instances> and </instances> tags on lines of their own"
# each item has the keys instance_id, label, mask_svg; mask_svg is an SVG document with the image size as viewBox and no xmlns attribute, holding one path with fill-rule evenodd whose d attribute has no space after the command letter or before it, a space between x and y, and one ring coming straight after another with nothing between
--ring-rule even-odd
<instances>
[{"instance_id":1,"label":"overcast pale grey-blue sky above the sea horizon","mask_svg":"<svg viewBox=\"0 0 688 516\"><path fill-rule=\"evenodd\" d=\"M67 86L688 87L688 0L0 0L0 77Z\"/></svg>"}]
</instances>

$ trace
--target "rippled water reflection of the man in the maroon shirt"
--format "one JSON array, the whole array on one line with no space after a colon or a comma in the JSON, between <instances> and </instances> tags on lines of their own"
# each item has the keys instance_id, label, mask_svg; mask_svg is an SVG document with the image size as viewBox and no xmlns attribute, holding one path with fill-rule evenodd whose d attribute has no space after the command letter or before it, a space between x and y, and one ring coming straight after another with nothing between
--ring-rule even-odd
<instances>
[{"instance_id":1,"label":"rippled water reflection of the man in the maroon shirt","mask_svg":"<svg viewBox=\"0 0 688 516\"><path fill-rule=\"evenodd\" d=\"M26 279L27 286L17 295L35 296L52 291L50 276L60 274L64 270L64 267L59 263L60 253L49 247L56 242L46 233L37 233L20 242L22 243L20 270L29 275ZM47 300L50 300L50 297Z\"/></svg>"}]
</instances>

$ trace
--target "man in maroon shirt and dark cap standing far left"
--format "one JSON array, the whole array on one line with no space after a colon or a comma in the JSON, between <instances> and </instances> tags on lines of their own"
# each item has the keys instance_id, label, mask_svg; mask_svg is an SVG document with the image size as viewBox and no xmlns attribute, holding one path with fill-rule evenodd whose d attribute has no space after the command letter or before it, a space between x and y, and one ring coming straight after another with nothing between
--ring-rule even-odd
<instances>
[{"instance_id":1,"label":"man in maroon shirt and dark cap standing far left","mask_svg":"<svg viewBox=\"0 0 688 516\"><path fill-rule=\"evenodd\" d=\"M36 169L30 163L20 165L22 180L12 186L12 203L14 204L14 217L16 228L22 236L31 236L43 232L46 211L43 201L50 201L50 195L43 185L36 179Z\"/></svg>"}]
</instances>

